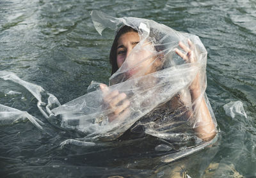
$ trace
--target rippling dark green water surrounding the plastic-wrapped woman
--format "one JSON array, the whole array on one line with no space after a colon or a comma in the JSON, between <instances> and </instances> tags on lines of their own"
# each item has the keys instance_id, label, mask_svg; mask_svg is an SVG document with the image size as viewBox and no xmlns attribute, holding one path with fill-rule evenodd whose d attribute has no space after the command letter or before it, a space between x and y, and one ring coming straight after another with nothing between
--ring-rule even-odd
<instances>
[{"instance_id":1,"label":"rippling dark green water surrounding the plastic-wrapped woman","mask_svg":"<svg viewBox=\"0 0 256 178\"><path fill-rule=\"evenodd\" d=\"M221 138L213 147L175 163L159 163L161 166L154 171L150 165L156 159L138 163L134 159L139 153L120 159L124 153L108 147L93 150L70 145L61 149L63 140L83 135L49 124L26 89L1 80L0 103L28 111L44 121L47 128L42 132L28 121L1 126L1 175L164 177L168 167L182 167L189 162L188 175L198 177L204 172L200 168L202 164L209 165L210 161L211 168L204 177L256 177L255 9L255 1L232 0L1 0L0 70L12 71L23 80L44 87L62 104L85 94L92 80L108 83L111 72L108 54L114 33L107 30L103 36L97 34L90 11L102 10L114 17L152 19L198 35L208 51L207 96L221 130ZM7 94L10 91L19 93ZM225 113L223 105L231 101L243 103L247 119L243 115L232 118ZM124 144L125 152L131 149L127 145ZM143 146L143 142L138 142L133 149L140 152ZM205 162L204 156L208 157ZM196 160L201 164L196 164ZM127 162L131 168L122 167Z\"/></svg>"}]
</instances>

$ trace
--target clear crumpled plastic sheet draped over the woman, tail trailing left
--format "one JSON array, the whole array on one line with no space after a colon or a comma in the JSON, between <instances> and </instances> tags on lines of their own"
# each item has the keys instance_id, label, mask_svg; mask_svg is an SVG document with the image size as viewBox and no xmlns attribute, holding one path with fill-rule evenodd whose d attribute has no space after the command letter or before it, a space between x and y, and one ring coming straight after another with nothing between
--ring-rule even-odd
<instances>
[{"instance_id":1,"label":"clear crumpled plastic sheet draped over the woman, tail trailing left","mask_svg":"<svg viewBox=\"0 0 256 178\"><path fill-rule=\"evenodd\" d=\"M126 25L136 29L140 36L140 43L132 49L118 71L109 78L109 92L125 93L130 101L129 114L109 122L108 115L113 111L104 107L104 93L99 89L97 82L92 82L88 87L90 93L61 105L58 99L49 93L46 93L47 102L43 102L41 94L45 91L42 87L25 82L13 73L1 71L0 77L26 87L38 100L38 108L44 117L54 126L83 132L86 136L79 141L73 140L75 144L83 145L84 142L84 145L93 146L93 142L129 139L132 138L131 135L150 135L164 140L165 144L156 145L156 151L175 150L175 154L162 157L164 162L174 161L212 144L214 139L204 142L195 131L202 121L200 115L189 114L191 111L197 112L198 103L205 100L214 123L213 131L216 131L216 119L205 94L207 51L198 36L175 31L153 20L114 18L99 11L92 11L92 20L100 34L106 27L116 30ZM195 47L195 63L187 63L175 54L175 48L180 48L179 41L187 44L188 39ZM141 55L145 51L150 56ZM129 61L138 63L131 66ZM148 68L142 68L145 61L148 62L148 68L153 69L151 73L147 73ZM159 61L160 67L156 64ZM136 73L128 75L132 70ZM201 93L191 102L189 86L196 75L200 78ZM95 90L92 91L93 89ZM0 114L3 115L4 112L4 106L0 105ZM22 118L31 118L24 115L24 112L20 114ZM38 119L29 120L33 120L37 126L42 124ZM72 139L64 141L61 146L70 143Z\"/></svg>"}]
</instances>

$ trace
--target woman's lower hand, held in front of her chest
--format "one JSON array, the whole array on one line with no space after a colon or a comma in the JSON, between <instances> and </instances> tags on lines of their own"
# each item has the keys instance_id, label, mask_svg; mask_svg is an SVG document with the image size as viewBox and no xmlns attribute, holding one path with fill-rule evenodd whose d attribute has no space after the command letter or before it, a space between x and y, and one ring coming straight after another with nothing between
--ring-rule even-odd
<instances>
[{"instance_id":1,"label":"woman's lower hand, held in front of her chest","mask_svg":"<svg viewBox=\"0 0 256 178\"><path fill-rule=\"evenodd\" d=\"M115 119L124 119L129 114L130 102L127 100L125 93L119 93L117 90L109 92L108 86L100 84L100 89L103 93L103 107L110 110L108 121L112 122Z\"/></svg>"}]
</instances>

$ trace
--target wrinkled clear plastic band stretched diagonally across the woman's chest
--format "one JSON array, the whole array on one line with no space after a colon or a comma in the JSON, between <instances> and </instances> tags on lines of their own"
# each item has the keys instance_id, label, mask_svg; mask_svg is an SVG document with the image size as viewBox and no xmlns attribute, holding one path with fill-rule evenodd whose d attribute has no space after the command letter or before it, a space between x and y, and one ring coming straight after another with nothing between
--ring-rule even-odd
<instances>
[{"instance_id":1,"label":"wrinkled clear plastic band stretched diagonally across the woman's chest","mask_svg":"<svg viewBox=\"0 0 256 178\"><path fill-rule=\"evenodd\" d=\"M143 115L146 115L154 107L168 100L168 98L172 98L175 93L188 85L193 76L189 75L189 77L184 78L184 80L180 82L177 81L178 77L173 77L177 74L177 71L185 75L188 71L193 73L196 67L188 67L183 70L166 70L157 73L157 75L148 75L147 78L142 77L143 80L148 81L156 80L156 78L162 79L154 81L152 85L148 85L147 82L147 87L140 83L141 78L134 78L109 87L109 92L118 90L119 93L125 93L129 96L131 112L127 117L122 118L122 120L116 119L113 122L108 122L107 115L111 111L104 110L102 107L102 92L100 90L70 101L61 107L55 108L52 112L54 115L61 116L61 119L63 119L63 127L77 129L84 133L93 133L94 135L118 136L130 128L131 125L138 121ZM168 75L164 76L164 73L168 73ZM168 81L171 81L172 84ZM161 92L159 93L158 91ZM153 94L155 96L154 98L152 98ZM86 113L86 115L84 113ZM72 122L74 123L73 125ZM78 122L79 124L75 124Z\"/></svg>"}]
</instances>

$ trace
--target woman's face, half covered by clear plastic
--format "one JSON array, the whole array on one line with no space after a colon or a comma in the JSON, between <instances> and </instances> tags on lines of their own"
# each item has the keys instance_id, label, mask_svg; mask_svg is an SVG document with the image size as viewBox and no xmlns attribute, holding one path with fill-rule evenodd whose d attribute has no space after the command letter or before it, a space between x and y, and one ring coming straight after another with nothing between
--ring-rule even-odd
<instances>
[{"instance_id":1,"label":"woman's face, half covered by clear plastic","mask_svg":"<svg viewBox=\"0 0 256 178\"><path fill-rule=\"evenodd\" d=\"M127 74L131 77L137 74L139 71L143 71L143 75L152 72L151 63L154 61L152 54L154 53L154 47L150 43L145 43L142 47L138 48L138 51L131 51L140 42L140 36L138 33L131 31L122 34L117 41L116 50L116 63L120 68L125 62L125 68L131 69L127 71ZM130 55L131 54L131 55ZM130 56L129 56L130 55ZM145 60L147 57L149 59Z\"/></svg>"}]
</instances>

